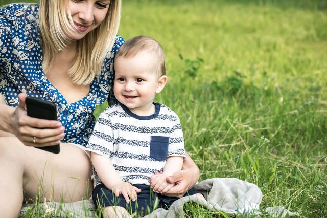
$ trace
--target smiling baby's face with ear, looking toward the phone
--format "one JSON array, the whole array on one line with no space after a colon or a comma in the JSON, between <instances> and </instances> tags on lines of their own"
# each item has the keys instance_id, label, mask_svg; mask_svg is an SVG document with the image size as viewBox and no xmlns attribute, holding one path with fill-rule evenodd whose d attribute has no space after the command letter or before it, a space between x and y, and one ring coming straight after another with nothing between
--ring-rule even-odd
<instances>
[{"instance_id":1,"label":"smiling baby's face with ear, looking toward the phone","mask_svg":"<svg viewBox=\"0 0 327 218\"><path fill-rule=\"evenodd\" d=\"M114 61L114 96L137 115L153 113L155 94L166 84L167 76L160 77L155 64L157 60L146 52L132 58L120 56Z\"/></svg>"}]
</instances>

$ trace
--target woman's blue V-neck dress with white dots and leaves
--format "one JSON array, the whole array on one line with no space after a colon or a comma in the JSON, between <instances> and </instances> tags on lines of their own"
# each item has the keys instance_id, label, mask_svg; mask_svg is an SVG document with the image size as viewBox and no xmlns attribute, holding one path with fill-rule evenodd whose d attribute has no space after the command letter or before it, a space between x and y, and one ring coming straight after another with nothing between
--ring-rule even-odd
<instances>
[{"instance_id":1,"label":"woman's blue V-neck dress with white dots and leaves","mask_svg":"<svg viewBox=\"0 0 327 218\"><path fill-rule=\"evenodd\" d=\"M51 101L57 105L58 120L65 127L66 143L86 146L95 118L96 105L113 96L113 58L124 43L117 36L104 60L101 75L90 84L90 92L68 104L48 81L42 69L42 49L36 4L13 4L0 9L0 93L9 106L18 105L18 94Z\"/></svg>"}]
</instances>

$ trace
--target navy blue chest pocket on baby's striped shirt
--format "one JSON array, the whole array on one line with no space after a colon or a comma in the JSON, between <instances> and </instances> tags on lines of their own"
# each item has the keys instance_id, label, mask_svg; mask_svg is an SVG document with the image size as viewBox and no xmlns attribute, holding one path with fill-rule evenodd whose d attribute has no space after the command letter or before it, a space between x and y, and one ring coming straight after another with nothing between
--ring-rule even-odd
<instances>
[{"instance_id":1,"label":"navy blue chest pocket on baby's striped shirt","mask_svg":"<svg viewBox=\"0 0 327 218\"><path fill-rule=\"evenodd\" d=\"M150 157L165 161L168 156L169 136L151 136Z\"/></svg>"}]
</instances>

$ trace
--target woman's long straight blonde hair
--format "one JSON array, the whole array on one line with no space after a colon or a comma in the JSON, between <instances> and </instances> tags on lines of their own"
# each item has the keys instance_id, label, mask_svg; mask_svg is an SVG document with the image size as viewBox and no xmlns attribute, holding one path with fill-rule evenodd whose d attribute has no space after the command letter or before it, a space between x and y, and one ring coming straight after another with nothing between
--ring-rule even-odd
<instances>
[{"instance_id":1,"label":"woman's long straight blonde hair","mask_svg":"<svg viewBox=\"0 0 327 218\"><path fill-rule=\"evenodd\" d=\"M40 0L38 19L44 72L50 70L55 54L68 45L70 39L66 33L76 32L65 7L66 1ZM76 59L68 71L75 84L88 85L100 74L103 61L114 44L120 23L121 0L110 0L108 7L102 23L77 41Z\"/></svg>"}]
</instances>

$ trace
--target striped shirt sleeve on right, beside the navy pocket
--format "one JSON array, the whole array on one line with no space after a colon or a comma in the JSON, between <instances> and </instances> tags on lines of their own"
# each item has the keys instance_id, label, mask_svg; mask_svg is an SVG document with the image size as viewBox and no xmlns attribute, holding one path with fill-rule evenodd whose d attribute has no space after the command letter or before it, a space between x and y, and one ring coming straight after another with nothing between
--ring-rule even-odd
<instances>
[{"instance_id":1,"label":"striped shirt sleeve on right, beside the navy pocket","mask_svg":"<svg viewBox=\"0 0 327 218\"><path fill-rule=\"evenodd\" d=\"M184 159L186 158L183 130L179 118L174 122L169 136L168 157L169 156L182 156Z\"/></svg>"}]
</instances>

